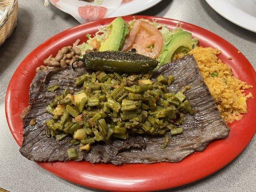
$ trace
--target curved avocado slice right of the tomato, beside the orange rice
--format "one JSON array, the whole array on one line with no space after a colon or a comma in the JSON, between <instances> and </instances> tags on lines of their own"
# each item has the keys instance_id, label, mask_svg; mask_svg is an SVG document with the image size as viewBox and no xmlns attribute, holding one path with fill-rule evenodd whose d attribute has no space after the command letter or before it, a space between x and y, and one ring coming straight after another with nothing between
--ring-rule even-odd
<instances>
[{"instance_id":1,"label":"curved avocado slice right of the tomato, beside the orange rice","mask_svg":"<svg viewBox=\"0 0 256 192\"><path fill-rule=\"evenodd\" d=\"M188 52L192 50L191 33L183 30L175 32L171 36L171 40L164 46L162 54L159 56L159 66L169 63L173 60L175 54Z\"/></svg>"}]
</instances>

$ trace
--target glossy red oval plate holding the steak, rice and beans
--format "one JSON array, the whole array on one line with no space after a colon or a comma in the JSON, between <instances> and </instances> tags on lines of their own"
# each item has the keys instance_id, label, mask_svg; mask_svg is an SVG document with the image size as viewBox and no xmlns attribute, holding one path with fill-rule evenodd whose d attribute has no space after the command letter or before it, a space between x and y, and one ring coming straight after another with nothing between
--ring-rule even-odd
<instances>
[{"instance_id":1,"label":"glossy red oval plate holding the steak, rice and beans","mask_svg":"<svg viewBox=\"0 0 256 192\"><path fill-rule=\"evenodd\" d=\"M150 16L136 16L136 19L157 19L160 24L174 28L178 21ZM78 25L51 37L33 50L14 72L7 89L6 117L16 142L22 144L23 123L20 115L28 106L28 92L36 68L50 54L57 54L64 46L72 45L78 38L86 40L86 34L94 34L98 28L110 24L114 18ZM125 21L133 16L123 17ZM256 72L238 49L223 38L193 24L181 22L184 30L199 38L202 47L217 47L222 50L219 58L232 67L234 75L254 86L249 91L256 96ZM232 57L233 60L228 60ZM196 152L179 163L155 164L91 164L88 162L38 163L41 167L59 177L77 184L111 191L151 191L176 187L199 180L219 170L238 156L256 132L256 99L248 99L248 113L244 118L229 124L228 138L214 141L203 152ZM18 152L17 152L18 153Z\"/></svg>"}]
</instances>

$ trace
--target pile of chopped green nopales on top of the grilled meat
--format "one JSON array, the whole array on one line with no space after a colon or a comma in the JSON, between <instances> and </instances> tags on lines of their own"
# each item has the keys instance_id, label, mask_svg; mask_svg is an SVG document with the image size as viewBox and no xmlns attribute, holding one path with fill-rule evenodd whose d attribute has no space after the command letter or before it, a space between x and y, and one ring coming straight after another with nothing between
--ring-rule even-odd
<instances>
[{"instance_id":1,"label":"pile of chopped green nopales on top of the grilled meat","mask_svg":"<svg viewBox=\"0 0 256 192\"><path fill-rule=\"evenodd\" d=\"M53 116L47 121L46 132L56 133L57 140L62 139L59 135L69 133L75 140L84 140L81 144L91 139L109 143L111 139L126 139L131 134L162 135L170 131L170 126L173 127L172 135L182 134L181 128L174 129L175 123L183 122L183 113L194 113L188 100L183 102L187 86L175 95L167 92L165 76L160 74L157 80L150 78L147 73L129 75L101 71L77 77L75 85L82 89L83 84L82 90L73 95L67 93L64 99L61 98L63 94L57 95L49 104L58 117ZM78 84L81 79L83 83ZM85 92L93 96L87 98ZM177 105L172 105L172 99L178 102ZM50 110L48 112L52 114ZM90 150L88 145L81 148Z\"/></svg>"}]
</instances>

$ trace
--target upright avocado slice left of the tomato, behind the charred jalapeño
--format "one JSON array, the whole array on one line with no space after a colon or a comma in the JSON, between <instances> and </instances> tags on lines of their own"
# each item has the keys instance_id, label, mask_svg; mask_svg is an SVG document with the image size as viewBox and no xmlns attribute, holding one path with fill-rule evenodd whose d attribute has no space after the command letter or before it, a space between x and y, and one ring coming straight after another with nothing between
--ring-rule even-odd
<instances>
[{"instance_id":1,"label":"upright avocado slice left of the tomato, behind the charred jalape\u00f1o","mask_svg":"<svg viewBox=\"0 0 256 192\"><path fill-rule=\"evenodd\" d=\"M121 17L117 17L107 27L110 28L109 35L99 48L99 51L118 51L122 48L129 29Z\"/></svg>"}]
</instances>

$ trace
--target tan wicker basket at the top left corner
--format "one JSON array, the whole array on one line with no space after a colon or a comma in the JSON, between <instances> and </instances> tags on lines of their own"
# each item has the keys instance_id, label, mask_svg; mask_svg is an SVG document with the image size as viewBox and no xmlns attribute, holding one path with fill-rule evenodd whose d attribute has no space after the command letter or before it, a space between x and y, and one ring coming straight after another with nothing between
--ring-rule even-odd
<instances>
[{"instance_id":1,"label":"tan wicker basket at the top left corner","mask_svg":"<svg viewBox=\"0 0 256 192\"><path fill-rule=\"evenodd\" d=\"M17 25L18 0L0 0L1 7L7 7L7 11L0 20L0 46L12 35Z\"/></svg>"}]
</instances>

